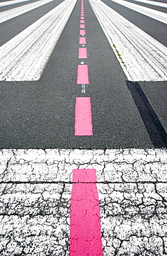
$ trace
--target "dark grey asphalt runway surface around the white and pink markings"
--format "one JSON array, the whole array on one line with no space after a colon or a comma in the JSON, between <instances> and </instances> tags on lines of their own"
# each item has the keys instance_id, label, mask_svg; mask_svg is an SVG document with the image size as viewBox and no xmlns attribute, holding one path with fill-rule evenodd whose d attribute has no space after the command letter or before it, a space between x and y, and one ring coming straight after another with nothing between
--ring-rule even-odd
<instances>
[{"instance_id":1,"label":"dark grey asphalt runway surface around the white and pink markings","mask_svg":"<svg viewBox=\"0 0 167 256\"><path fill-rule=\"evenodd\" d=\"M109 0L104 2L111 5ZM47 11L57 3L60 1L47 4ZM137 18L137 12L128 10L126 14L124 9L127 8L116 8L128 15L134 24L134 21L141 19L141 15ZM21 15L1 24L4 41L17 34L26 24L29 26L33 23L37 13L40 16L46 11L44 6L38 9L39 13L37 9L27 13L26 19ZM159 30L164 30L164 25L152 21L159 28L157 30L156 27L156 32L150 18L146 19L148 24L140 21L139 27L142 24L143 30L150 27L150 33L154 32L152 36L159 40ZM10 26L14 21L15 26L11 31ZM76 84L77 66L81 61L78 59L79 24L80 1L76 3L41 80L0 82L1 148L154 148L126 85L127 78L86 0L85 26L89 56L84 62L89 65L90 84L86 86L86 93L81 93L81 86ZM161 35L161 42L165 41L165 37L166 32ZM143 82L140 85L166 129L167 82ZM75 100L83 96L91 97L94 136L74 136Z\"/></svg>"}]
</instances>

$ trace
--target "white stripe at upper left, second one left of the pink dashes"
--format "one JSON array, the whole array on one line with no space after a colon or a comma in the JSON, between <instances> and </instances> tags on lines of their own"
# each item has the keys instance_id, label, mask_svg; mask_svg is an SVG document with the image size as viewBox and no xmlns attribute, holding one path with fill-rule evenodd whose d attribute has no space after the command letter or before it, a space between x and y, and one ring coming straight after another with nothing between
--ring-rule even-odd
<instances>
[{"instance_id":1,"label":"white stripe at upper left, second one left of the pink dashes","mask_svg":"<svg viewBox=\"0 0 167 256\"><path fill-rule=\"evenodd\" d=\"M19 6L17 8L12 8L10 10L5 10L4 12L0 12L0 23L4 21L8 21L8 19L15 18L19 15L22 15L25 12L29 12L30 10L38 8L39 6L44 6L44 4L50 3L51 1L53 0L41 0L35 3L28 3L24 6Z\"/></svg>"}]
</instances>

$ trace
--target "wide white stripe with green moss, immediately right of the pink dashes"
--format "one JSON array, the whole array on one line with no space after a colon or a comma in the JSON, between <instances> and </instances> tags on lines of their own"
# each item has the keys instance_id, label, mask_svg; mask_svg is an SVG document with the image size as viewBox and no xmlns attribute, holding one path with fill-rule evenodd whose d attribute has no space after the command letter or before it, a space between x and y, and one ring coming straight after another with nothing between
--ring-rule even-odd
<instances>
[{"instance_id":1,"label":"wide white stripe with green moss, immediately right of the pink dashes","mask_svg":"<svg viewBox=\"0 0 167 256\"><path fill-rule=\"evenodd\" d=\"M128 80L167 81L166 46L102 1L89 2Z\"/></svg>"}]
</instances>

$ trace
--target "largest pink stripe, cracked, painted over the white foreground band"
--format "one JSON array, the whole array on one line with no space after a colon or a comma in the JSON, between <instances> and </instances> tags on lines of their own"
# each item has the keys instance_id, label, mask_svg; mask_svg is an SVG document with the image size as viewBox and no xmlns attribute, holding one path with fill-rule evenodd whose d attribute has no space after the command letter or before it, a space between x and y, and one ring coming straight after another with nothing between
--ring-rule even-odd
<instances>
[{"instance_id":1,"label":"largest pink stripe, cracked, painted over the white foreground band","mask_svg":"<svg viewBox=\"0 0 167 256\"><path fill-rule=\"evenodd\" d=\"M73 182L69 256L103 256L96 170L74 169Z\"/></svg>"}]
</instances>

